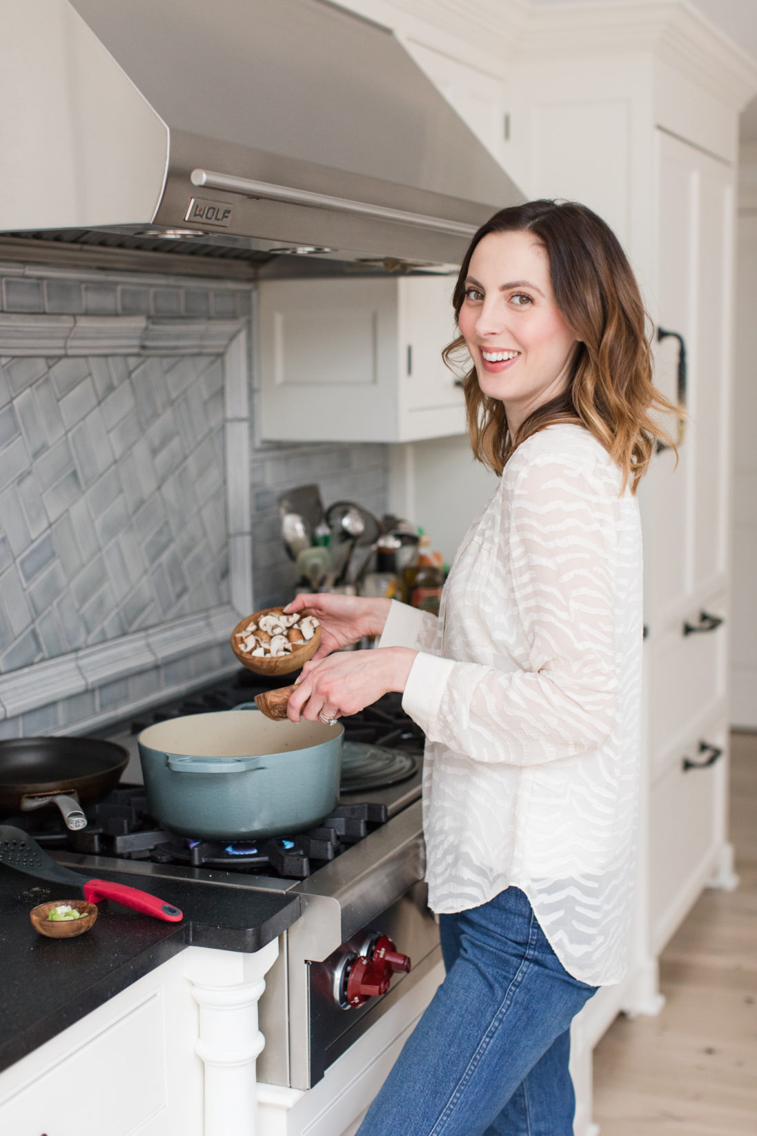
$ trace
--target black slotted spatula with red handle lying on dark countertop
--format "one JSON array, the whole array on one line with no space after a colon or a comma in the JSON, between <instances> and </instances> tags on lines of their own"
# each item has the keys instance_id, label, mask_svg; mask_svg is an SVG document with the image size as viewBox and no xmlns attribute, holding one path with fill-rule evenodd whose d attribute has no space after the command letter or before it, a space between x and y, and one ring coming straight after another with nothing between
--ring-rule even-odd
<instances>
[{"instance_id":1,"label":"black slotted spatula with red handle lying on dark countertop","mask_svg":"<svg viewBox=\"0 0 757 1136\"><path fill-rule=\"evenodd\" d=\"M15 871L23 871L26 876L34 876L35 879L78 887L90 903L96 903L98 900L115 900L125 908L133 908L145 916L166 919L168 922L178 922L184 918L178 908L159 900L157 895L150 895L149 892L140 892L136 887L126 887L124 884L112 884L108 879L89 879L78 871L64 868L49 857L28 833L14 828L12 825L0 825L0 863Z\"/></svg>"}]
</instances>

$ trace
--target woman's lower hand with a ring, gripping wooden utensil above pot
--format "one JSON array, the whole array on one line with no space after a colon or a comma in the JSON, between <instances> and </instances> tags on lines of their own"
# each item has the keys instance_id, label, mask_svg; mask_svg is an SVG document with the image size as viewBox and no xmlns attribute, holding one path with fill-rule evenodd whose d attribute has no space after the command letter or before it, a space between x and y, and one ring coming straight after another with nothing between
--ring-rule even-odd
<instances>
[{"instance_id":1,"label":"woman's lower hand with a ring, gripping wooden utensil above pot","mask_svg":"<svg viewBox=\"0 0 757 1136\"><path fill-rule=\"evenodd\" d=\"M319 716L338 718L358 713L388 691L404 691L417 654L418 651L406 646L381 646L371 651L342 651L320 662L312 659L302 668L287 703L287 717L292 721L300 721L301 717L318 721Z\"/></svg>"}]
</instances>

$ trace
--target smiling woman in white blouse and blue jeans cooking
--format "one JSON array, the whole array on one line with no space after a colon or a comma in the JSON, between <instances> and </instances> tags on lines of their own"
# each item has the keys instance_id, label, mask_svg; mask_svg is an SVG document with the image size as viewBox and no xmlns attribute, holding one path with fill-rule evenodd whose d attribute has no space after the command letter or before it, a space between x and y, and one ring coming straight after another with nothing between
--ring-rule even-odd
<instances>
[{"instance_id":1,"label":"smiling woman in white blouse and blue jeans cooking","mask_svg":"<svg viewBox=\"0 0 757 1136\"><path fill-rule=\"evenodd\" d=\"M570 1024L626 964L639 766L636 488L672 410L612 231L574 202L504 209L453 303L473 452L501 474L438 618L298 595L322 642L289 717L386 691L427 736L429 905L447 976L359 1136L570 1136ZM665 436L665 435L663 435ZM337 648L381 634L373 651Z\"/></svg>"}]
</instances>

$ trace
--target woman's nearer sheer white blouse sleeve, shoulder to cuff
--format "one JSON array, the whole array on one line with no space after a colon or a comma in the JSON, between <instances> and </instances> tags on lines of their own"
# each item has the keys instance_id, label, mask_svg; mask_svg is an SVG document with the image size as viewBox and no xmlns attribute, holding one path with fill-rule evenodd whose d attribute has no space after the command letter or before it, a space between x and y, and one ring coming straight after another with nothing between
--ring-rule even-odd
<instances>
[{"instance_id":1,"label":"woman's nearer sheer white blouse sleeve, shoulder to cuff","mask_svg":"<svg viewBox=\"0 0 757 1136\"><path fill-rule=\"evenodd\" d=\"M516 476L501 554L528 658L503 671L419 654L403 707L431 741L477 761L530 766L607 738L619 698L613 481L553 457Z\"/></svg>"}]
</instances>

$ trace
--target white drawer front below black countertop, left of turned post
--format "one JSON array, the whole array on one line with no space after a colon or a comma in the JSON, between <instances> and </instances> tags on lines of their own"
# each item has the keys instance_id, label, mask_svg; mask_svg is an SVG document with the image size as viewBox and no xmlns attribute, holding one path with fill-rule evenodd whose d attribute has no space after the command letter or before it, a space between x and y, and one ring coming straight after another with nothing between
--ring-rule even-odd
<instances>
[{"instance_id":1,"label":"white drawer front below black countertop, left of turned post","mask_svg":"<svg viewBox=\"0 0 757 1136\"><path fill-rule=\"evenodd\" d=\"M11 1096L0 1106L0 1131L8 1136L166 1133L163 1046L162 999L153 994Z\"/></svg>"}]
</instances>

